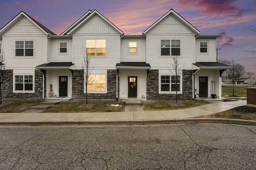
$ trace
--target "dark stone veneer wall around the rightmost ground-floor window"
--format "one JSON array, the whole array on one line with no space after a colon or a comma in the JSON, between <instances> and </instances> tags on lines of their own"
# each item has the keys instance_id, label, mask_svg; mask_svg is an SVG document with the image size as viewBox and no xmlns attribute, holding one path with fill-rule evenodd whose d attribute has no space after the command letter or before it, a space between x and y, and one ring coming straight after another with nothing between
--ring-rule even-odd
<instances>
[{"instance_id":1,"label":"dark stone veneer wall around the rightmost ground-floor window","mask_svg":"<svg viewBox=\"0 0 256 170\"><path fill-rule=\"evenodd\" d=\"M179 100L192 98L192 75L193 70L183 70L182 94L178 94ZM159 94L159 70L149 70L147 77L148 100L176 100L176 94Z\"/></svg>"}]
</instances>

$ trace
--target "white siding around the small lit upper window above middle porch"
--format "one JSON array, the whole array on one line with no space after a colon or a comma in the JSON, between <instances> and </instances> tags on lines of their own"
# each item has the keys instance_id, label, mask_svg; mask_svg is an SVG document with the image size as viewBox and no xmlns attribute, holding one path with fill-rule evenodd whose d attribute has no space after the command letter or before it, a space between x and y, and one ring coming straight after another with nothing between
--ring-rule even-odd
<instances>
[{"instance_id":1,"label":"white siding around the small lit upper window above middle porch","mask_svg":"<svg viewBox=\"0 0 256 170\"><path fill-rule=\"evenodd\" d=\"M137 53L129 53L129 42L137 42ZM121 38L120 62L146 62L145 38Z\"/></svg>"}]
</instances>

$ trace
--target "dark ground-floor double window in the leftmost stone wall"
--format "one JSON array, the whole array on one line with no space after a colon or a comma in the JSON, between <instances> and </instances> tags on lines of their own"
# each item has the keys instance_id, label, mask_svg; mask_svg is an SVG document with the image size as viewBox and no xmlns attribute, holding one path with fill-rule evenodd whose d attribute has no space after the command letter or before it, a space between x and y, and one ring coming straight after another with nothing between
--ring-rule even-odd
<instances>
[{"instance_id":1,"label":"dark ground-floor double window in the leftmost stone wall","mask_svg":"<svg viewBox=\"0 0 256 170\"><path fill-rule=\"evenodd\" d=\"M32 91L33 76L32 75L15 75L15 91Z\"/></svg>"}]
</instances>

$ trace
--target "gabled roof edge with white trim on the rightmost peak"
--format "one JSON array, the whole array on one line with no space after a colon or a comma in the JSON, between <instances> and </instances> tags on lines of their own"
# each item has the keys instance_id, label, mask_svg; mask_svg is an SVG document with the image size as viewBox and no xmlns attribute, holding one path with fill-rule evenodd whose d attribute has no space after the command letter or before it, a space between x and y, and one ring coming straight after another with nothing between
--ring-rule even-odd
<instances>
[{"instance_id":1,"label":"gabled roof edge with white trim on the rightmost peak","mask_svg":"<svg viewBox=\"0 0 256 170\"><path fill-rule=\"evenodd\" d=\"M148 33L151 29L153 29L158 23L160 23L162 20L164 20L168 15L172 14L175 18L177 18L179 21L181 21L184 25L186 25L191 31L193 31L196 35L200 34L200 31L196 29L193 25L191 25L188 21L186 21L182 16L180 16L177 12L175 12L173 9L168 11L164 16L162 16L159 20L157 20L153 25L148 27L145 31L142 32L142 34Z\"/></svg>"}]
</instances>

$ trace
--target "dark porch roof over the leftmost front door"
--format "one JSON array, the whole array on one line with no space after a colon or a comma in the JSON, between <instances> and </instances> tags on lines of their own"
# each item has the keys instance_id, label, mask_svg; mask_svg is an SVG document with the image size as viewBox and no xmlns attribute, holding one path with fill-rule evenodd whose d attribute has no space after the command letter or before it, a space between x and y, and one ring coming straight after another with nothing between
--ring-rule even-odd
<instances>
[{"instance_id":1,"label":"dark porch roof over the leftmost front door","mask_svg":"<svg viewBox=\"0 0 256 170\"><path fill-rule=\"evenodd\" d=\"M36 66L35 68L37 69L70 69L74 70L75 69L75 64L72 62L51 62L51 63L46 63L46 64L41 64L39 66Z\"/></svg>"}]
</instances>

